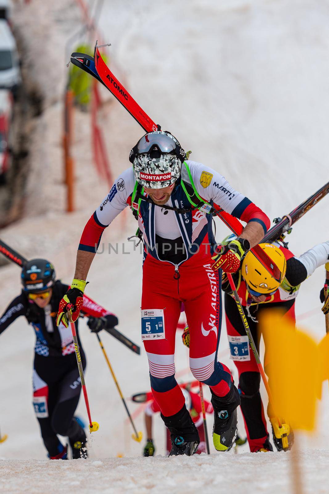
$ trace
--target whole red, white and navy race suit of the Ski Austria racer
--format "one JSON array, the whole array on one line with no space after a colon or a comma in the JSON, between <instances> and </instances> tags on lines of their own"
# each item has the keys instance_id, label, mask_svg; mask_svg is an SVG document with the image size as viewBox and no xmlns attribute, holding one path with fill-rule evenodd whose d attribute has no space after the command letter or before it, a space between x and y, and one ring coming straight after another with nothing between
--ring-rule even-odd
<instances>
[{"instance_id":1,"label":"whole red, white and navy race suit of the Ski Austria racer","mask_svg":"<svg viewBox=\"0 0 329 494\"><path fill-rule=\"evenodd\" d=\"M182 165L182 176L185 167L198 194L209 205L219 205L246 223L255 221L266 233L270 223L266 214L234 190L216 170L186 161ZM136 211L136 198L134 201L132 199L135 186L134 171L129 168L118 177L108 196L86 224L80 250L95 252L104 229L115 216L128 205ZM145 192L141 192L142 197L143 194L144 200L140 200L138 211L145 248L142 335L143 330L148 330L147 337L154 338L144 341L150 382L162 415L169 417L178 413L184 405L182 391L175 379L174 364L175 332L182 302L190 330L190 368L193 375L208 384L219 397L227 395L233 379L228 368L217 361L221 324L220 277L211 269L211 246L215 244L215 239L210 206L204 205L203 210L192 207L179 181L163 207L149 201ZM162 252L157 246L162 247ZM148 318L147 311L153 313L153 322ZM163 329L163 325L165 334L163 337L162 333L160 339L157 331ZM146 337L146 332L143 337Z\"/></svg>"}]
</instances>

